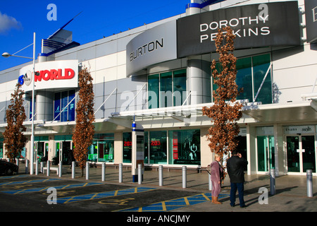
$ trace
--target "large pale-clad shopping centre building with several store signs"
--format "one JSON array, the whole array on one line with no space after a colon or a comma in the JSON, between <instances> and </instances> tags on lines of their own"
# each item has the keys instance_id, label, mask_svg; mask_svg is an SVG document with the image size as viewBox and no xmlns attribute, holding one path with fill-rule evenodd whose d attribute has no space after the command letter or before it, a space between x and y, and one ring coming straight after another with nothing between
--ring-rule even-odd
<instances>
[{"instance_id":1,"label":"large pale-clad shopping centre building with several store signs","mask_svg":"<svg viewBox=\"0 0 317 226\"><path fill-rule=\"evenodd\" d=\"M35 71L35 157L68 162L73 150L78 72L94 83L90 162L204 168L213 160L206 139L213 105L214 38L236 35L237 85L243 88L238 149L247 174L316 174L317 1L192 1L184 13L79 44L61 29L42 40ZM74 34L76 36L76 34ZM5 49L2 49L3 52ZM19 81L25 90L31 159L32 62L0 71L0 131ZM32 73L31 73L32 74ZM20 78L20 79L19 79ZM6 157L1 134L0 157ZM133 150L136 147L136 150Z\"/></svg>"}]
</instances>

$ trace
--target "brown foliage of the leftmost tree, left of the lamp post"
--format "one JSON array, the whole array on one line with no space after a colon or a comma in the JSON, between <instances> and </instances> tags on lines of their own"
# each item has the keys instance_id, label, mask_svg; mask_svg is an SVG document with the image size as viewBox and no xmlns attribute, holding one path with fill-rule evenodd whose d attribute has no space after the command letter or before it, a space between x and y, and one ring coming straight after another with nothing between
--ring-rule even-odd
<instances>
[{"instance_id":1,"label":"brown foliage of the leftmost tree, left of the lamp post","mask_svg":"<svg viewBox=\"0 0 317 226\"><path fill-rule=\"evenodd\" d=\"M21 85L17 83L14 93L11 94L11 105L8 105L6 110L6 131L3 133L6 156L11 162L14 162L16 157L20 157L27 141L23 134L26 131L26 127L23 126L23 121L26 119L23 107L24 92L20 87Z\"/></svg>"}]
</instances>

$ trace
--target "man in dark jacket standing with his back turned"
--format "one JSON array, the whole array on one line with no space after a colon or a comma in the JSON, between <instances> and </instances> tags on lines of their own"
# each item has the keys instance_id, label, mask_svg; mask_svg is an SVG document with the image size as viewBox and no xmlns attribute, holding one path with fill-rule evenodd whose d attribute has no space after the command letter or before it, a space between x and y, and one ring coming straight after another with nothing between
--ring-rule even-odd
<instances>
[{"instance_id":1,"label":"man in dark jacket standing with his back turned","mask_svg":"<svg viewBox=\"0 0 317 226\"><path fill-rule=\"evenodd\" d=\"M237 150L232 151L232 157L227 161L227 170L230 177L230 206L235 206L235 194L238 190L240 207L246 207L244 203L244 167L248 165L248 161L244 160Z\"/></svg>"}]
</instances>

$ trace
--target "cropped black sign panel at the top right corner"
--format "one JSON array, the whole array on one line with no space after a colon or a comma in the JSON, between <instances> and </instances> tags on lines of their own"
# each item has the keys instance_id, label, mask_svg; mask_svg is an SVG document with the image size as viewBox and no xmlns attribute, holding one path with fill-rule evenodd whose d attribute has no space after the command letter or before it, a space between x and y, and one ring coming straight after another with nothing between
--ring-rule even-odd
<instances>
[{"instance_id":1,"label":"cropped black sign panel at the top right corner","mask_svg":"<svg viewBox=\"0 0 317 226\"><path fill-rule=\"evenodd\" d=\"M317 0L305 0L307 42L317 42Z\"/></svg>"}]
</instances>

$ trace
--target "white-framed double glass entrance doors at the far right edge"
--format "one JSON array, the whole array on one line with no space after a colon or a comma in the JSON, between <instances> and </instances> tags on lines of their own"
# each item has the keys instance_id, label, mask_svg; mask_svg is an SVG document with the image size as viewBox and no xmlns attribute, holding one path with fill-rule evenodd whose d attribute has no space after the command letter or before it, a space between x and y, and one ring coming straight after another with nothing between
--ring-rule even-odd
<instances>
[{"instance_id":1,"label":"white-framed double glass entrance doors at the far right edge","mask_svg":"<svg viewBox=\"0 0 317 226\"><path fill-rule=\"evenodd\" d=\"M307 169L316 173L315 136L286 137L287 172L306 174Z\"/></svg>"}]
</instances>

